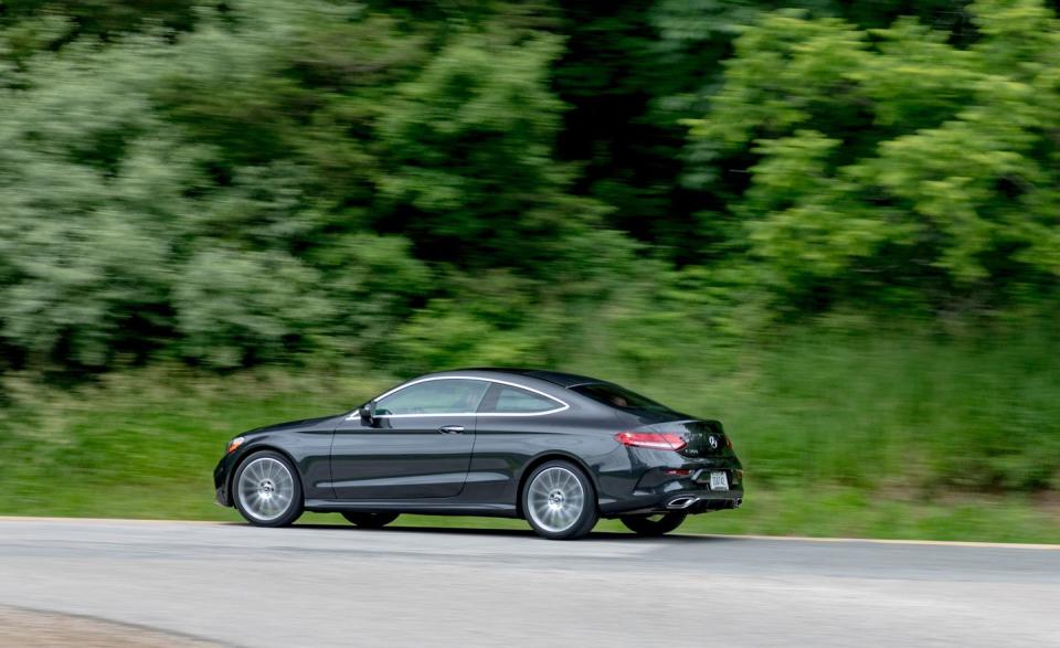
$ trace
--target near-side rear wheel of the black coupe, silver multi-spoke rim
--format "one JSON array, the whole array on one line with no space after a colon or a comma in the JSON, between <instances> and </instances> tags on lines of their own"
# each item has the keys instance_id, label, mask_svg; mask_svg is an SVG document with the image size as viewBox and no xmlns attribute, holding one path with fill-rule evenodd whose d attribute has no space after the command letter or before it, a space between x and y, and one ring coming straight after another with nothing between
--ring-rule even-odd
<instances>
[{"instance_id":1,"label":"near-side rear wheel of the black coupe, silver multi-spoke rim","mask_svg":"<svg viewBox=\"0 0 1060 648\"><path fill-rule=\"evenodd\" d=\"M600 519L596 490L581 468L570 461L545 461L522 488L522 512L534 532L548 540L589 535Z\"/></svg>"}]
</instances>

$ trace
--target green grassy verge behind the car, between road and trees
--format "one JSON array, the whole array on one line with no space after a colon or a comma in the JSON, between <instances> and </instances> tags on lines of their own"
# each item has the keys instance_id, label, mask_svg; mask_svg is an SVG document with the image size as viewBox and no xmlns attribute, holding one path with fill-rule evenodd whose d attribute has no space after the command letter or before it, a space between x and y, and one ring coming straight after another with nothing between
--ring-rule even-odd
<instances>
[{"instance_id":1,"label":"green grassy verge behind the car, between road and trees","mask_svg":"<svg viewBox=\"0 0 1060 648\"><path fill-rule=\"evenodd\" d=\"M748 469L746 503L690 518L685 531L1060 542L1060 354L1034 332L1005 340L815 331L690 351L647 373L586 349L566 369L725 422ZM219 376L170 367L76 390L8 379L0 514L235 520L212 503L224 442L343 411L393 382L361 375L373 373ZM526 529L519 520L399 522Z\"/></svg>"}]
</instances>

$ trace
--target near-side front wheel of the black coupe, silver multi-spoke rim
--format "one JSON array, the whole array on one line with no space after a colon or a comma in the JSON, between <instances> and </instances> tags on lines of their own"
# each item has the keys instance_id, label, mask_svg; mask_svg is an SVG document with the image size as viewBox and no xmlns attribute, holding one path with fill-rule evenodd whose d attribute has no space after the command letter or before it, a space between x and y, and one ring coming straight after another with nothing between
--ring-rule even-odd
<instances>
[{"instance_id":1,"label":"near-side front wheel of the black coupe, silver multi-spoke rim","mask_svg":"<svg viewBox=\"0 0 1060 648\"><path fill-rule=\"evenodd\" d=\"M254 453L235 471L232 500L255 527L286 527L301 516L301 478L287 457L272 450Z\"/></svg>"}]
</instances>

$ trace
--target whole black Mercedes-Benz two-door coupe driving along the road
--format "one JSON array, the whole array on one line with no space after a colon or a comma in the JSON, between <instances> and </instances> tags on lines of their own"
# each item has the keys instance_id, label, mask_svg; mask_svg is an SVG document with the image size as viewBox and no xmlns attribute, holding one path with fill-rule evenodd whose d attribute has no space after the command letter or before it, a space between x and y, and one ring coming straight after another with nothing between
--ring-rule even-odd
<instances>
[{"instance_id":1,"label":"whole black Mercedes-Benz two-door coupe driving along the road","mask_svg":"<svg viewBox=\"0 0 1060 648\"><path fill-rule=\"evenodd\" d=\"M401 513L494 516L555 540L602 517L658 535L743 502L719 422L606 381L520 369L423 375L351 412L243 433L214 486L261 527L305 510L365 528Z\"/></svg>"}]
</instances>

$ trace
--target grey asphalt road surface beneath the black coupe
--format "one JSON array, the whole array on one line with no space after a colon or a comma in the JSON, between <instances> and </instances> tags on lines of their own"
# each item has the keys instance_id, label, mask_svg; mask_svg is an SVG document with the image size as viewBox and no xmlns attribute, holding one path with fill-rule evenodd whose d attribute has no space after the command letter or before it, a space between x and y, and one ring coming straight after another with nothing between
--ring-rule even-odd
<instances>
[{"instance_id":1,"label":"grey asphalt road surface beneath the black coupe","mask_svg":"<svg viewBox=\"0 0 1060 648\"><path fill-rule=\"evenodd\" d=\"M1060 546L0 519L0 606L236 646L1058 646Z\"/></svg>"}]
</instances>

